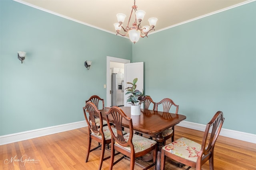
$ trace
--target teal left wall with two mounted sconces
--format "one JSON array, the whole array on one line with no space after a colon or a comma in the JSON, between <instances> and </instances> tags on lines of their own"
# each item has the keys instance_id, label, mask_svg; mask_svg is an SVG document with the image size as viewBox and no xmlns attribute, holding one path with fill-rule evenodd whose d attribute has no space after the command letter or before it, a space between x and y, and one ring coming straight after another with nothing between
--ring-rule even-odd
<instances>
[{"instance_id":1,"label":"teal left wall with two mounted sconces","mask_svg":"<svg viewBox=\"0 0 256 170\"><path fill-rule=\"evenodd\" d=\"M130 40L0 0L0 135L84 120L85 100L106 100L106 56L131 59Z\"/></svg>"}]
</instances>

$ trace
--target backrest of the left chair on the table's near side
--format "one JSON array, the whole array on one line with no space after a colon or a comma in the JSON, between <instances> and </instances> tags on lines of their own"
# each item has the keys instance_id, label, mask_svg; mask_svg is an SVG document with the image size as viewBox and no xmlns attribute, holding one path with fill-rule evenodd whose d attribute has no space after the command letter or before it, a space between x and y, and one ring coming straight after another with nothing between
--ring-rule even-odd
<instances>
[{"instance_id":1,"label":"backrest of the left chair on the table's near side","mask_svg":"<svg viewBox=\"0 0 256 170\"><path fill-rule=\"evenodd\" d=\"M92 133L94 133L95 135L100 135L103 134L103 121L102 121L102 115L101 115L101 111L99 111L97 109L97 107L92 103L92 102L86 102L85 106L83 107L83 111L84 111L84 117L85 120L87 122L87 125L90 129L90 131ZM86 112L89 113L89 116L87 117ZM99 115L100 118L100 129L98 129L98 127L96 126L96 122L95 122L95 113L97 113ZM90 133L90 132L88 132ZM102 135L104 137L104 135Z\"/></svg>"}]
</instances>

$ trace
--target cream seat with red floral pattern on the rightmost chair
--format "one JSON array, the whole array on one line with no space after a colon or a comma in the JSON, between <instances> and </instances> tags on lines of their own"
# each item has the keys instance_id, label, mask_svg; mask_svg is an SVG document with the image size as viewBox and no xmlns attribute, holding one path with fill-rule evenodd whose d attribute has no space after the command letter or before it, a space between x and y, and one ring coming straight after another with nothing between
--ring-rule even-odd
<instances>
[{"instance_id":1,"label":"cream seat with red floral pattern on the rightmost chair","mask_svg":"<svg viewBox=\"0 0 256 170\"><path fill-rule=\"evenodd\" d=\"M201 145L194 141L191 141L189 139L182 137L164 146L162 149L172 154L175 154L177 156L180 156L182 158L185 158L187 160L196 162L198 158L198 153L201 150Z\"/></svg>"}]
</instances>

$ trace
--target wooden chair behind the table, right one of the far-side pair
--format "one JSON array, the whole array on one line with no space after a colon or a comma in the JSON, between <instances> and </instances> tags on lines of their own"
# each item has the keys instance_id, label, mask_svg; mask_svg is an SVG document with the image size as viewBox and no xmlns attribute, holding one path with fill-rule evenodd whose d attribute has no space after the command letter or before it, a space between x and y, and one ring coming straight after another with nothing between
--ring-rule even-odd
<instances>
[{"instance_id":1,"label":"wooden chair behind the table, right one of the far-side pair","mask_svg":"<svg viewBox=\"0 0 256 170\"><path fill-rule=\"evenodd\" d=\"M176 114L178 114L179 106L176 105L172 99L164 98L160 102L156 103L156 111L162 109L162 111L169 115L170 109L172 109ZM165 115L165 116L168 116ZM164 115L163 115L164 116ZM170 127L162 132L164 137L164 145L166 145L166 140L172 138L172 142L174 141L174 126Z\"/></svg>"}]
</instances>

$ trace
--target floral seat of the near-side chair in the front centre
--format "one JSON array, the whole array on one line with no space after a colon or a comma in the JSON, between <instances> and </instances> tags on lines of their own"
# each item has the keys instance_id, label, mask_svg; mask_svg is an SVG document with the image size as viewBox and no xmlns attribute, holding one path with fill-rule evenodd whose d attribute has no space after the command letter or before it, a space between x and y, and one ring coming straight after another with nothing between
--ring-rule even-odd
<instances>
[{"instance_id":1,"label":"floral seat of the near-side chair in the front centre","mask_svg":"<svg viewBox=\"0 0 256 170\"><path fill-rule=\"evenodd\" d=\"M124 140L126 142L128 141L129 136L130 136L130 133L127 133L126 135L124 135ZM115 144L118 145L117 142ZM142 137L140 135L133 134L132 144L134 146L135 153L138 153L138 152L141 152L143 150L146 150L146 149L152 147L153 145L156 144L156 141ZM124 147L124 148L127 150L131 150L131 147Z\"/></svg>"}]
</instances>

